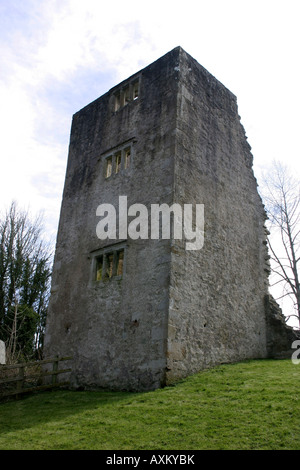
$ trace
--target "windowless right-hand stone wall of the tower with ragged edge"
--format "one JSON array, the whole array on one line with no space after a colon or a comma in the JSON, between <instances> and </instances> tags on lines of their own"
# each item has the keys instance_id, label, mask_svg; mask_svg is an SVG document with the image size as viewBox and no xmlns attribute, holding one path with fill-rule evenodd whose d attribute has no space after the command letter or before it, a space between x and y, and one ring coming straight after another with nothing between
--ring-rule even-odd
<instances>
[{"instance_id":1,"label":"windowless right-hand stone wall of the tower with ragged edge","mask_svg":"<svg viewBox=\"0 0 300 470\"><path fill-rule=\"evenodd\" d=\"M265 357L265 213L235 96L180 55L175 199L204 203L200 251L174 245L168 376Z\"/></svg>"}]
</instances>

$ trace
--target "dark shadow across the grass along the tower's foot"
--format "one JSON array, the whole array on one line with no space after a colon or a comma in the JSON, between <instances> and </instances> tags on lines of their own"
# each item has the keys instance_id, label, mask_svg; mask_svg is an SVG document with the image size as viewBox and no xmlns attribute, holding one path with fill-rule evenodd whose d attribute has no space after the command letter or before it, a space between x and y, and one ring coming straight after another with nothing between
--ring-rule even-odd
<instances>
[{"instance_id":1,"label":"dark shadow across the grass along the tower's foot","mask_svg":"<svg viewBox=\"0 0 300 470\"><path fill-rule=\"evenodd\" d=\"M242 367L243 364L251 365L251 361L241 362L237 367ZM262 364L262 363L261 363ZM189 376L178 380L173 385L167 386L163 389L158 389L156 392L160 394L160 399L168 399L168 390L177 389L179 393L184 393L184 389L187 389L187 393L193 392L193 382L196 380L196 391L198 395L198 382L200 376L205 379L209 376L209 382L212 383L214 380L219 381L220 374L228 367L234 367L234 364L226 365L225 369L222 365L213 369L206 369L199 374ZM253 363L252 366L253 367ZM51 422L62 422L68 420L68 418L74 417L76 414L82 414L84 412L97 411L102 408L103 413L108 407L115 408L130 404L140 404L148 399L151 401L153 398L151 392L120 392L120 391L109 391L109 390L98 390L98 391L72 391L72 390L52 390L44 392L36 392L28 395L23 395L19 400L11 399L8 402L0 402L0 435L7 432L13 432L17 430L25 430L34 428L35 426L47 425ZM166 395L165 395L166 394ZM163 396L165 397L163 398ZM147 397L147 398L146 398ZM154 399L155 400L155 399ZM161 402L163 403L163 402Z\"/></svg>"}]
</instances>

